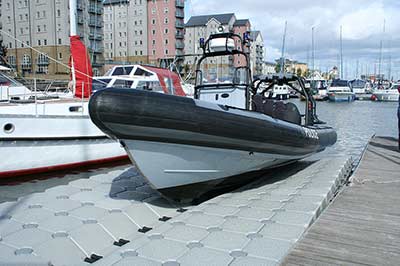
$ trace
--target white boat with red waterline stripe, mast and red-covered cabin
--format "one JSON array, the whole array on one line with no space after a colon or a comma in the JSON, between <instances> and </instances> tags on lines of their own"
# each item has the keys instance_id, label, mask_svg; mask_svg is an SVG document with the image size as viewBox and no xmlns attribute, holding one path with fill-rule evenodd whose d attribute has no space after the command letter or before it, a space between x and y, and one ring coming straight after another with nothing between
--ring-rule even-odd
<instances>
[{"instance_id":1,"label":"white boat with red waterline stripe, mast and red-covered cabin","mask_svg":"<svg viewBox=\"0 0 400 266\"><path fill-rule=\"evenodd\" d=\"M70 6L76 8L76 4ZM71 16L75 11L71 8ZM138 88L138 84L143 84L142 88L146 90L185 95L177 74L151 67L144 69L140 66L116 66L111 73L113 83L96 79L92 82L87 49L76 35L72 24L70 40L73 93L36 93L12 79L7 82L9 87L2 88L7 94L0 103L0 178L128 158L120 144L108 138L89 118L88 99L91 96L92 83L95 88L101 84L103 88L110 85L129 89L132 86L128 84L133 84L134 79ZM123 72L120 75L116 73L127 69L135 73L141 71L141 75L130 78L125 77ZM155 86L156 82L159 87Z\"/></svg>"}]
</instances>

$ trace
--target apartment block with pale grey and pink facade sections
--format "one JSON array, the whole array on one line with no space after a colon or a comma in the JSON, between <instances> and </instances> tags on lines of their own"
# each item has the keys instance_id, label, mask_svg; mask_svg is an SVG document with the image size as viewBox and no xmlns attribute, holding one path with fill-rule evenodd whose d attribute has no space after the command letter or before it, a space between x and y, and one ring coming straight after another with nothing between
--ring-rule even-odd
<instances>
[{"instance_id":1,"label":"apartment block with pale grey and pink facade sections","mask_svg":"<svg viewBox=\"0 0 400 266\"><path fill-rule=\"evenodd\" d=\"M104 56L109 63L166 67L183 55L183 0L104 1Z\"/></svg>"}]
</instances>

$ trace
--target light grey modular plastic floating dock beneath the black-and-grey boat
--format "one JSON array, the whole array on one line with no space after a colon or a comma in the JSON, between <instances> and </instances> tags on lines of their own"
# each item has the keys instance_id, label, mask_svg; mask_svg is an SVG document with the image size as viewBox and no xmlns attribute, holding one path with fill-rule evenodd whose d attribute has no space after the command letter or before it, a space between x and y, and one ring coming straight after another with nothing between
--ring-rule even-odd
<instances>
[{"instance_id":1,"label":"light grey modular plastic floating dock beneath the black-and-grey boat","mask_svg":"<svg viewBox=\"0 0 400 266\"><path fill-rule=\"evenodd\" d=\"M164 200L134 167L25 188L0 204L0 264L276 265L351 167L302 161L197 206Z\"/></svg>"}]
</instances>

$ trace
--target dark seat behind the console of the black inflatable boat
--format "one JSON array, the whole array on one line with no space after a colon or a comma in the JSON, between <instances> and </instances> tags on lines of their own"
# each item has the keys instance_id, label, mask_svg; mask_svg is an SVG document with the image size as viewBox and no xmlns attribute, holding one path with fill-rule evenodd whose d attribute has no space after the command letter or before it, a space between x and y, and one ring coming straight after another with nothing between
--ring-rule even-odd
<instances>
[{"instance_id":1,"label":"dark seat behind the console of the black inflatable boat","mask_svg":"<svg viewBox=\"0 0 400 266\"><path fill-rule=\"evenodd\" d=\"M289 123L301 125L301 114L294 103L271 100L262 95L253 96L253 110Z\"/></svg>"}]
</instances>

